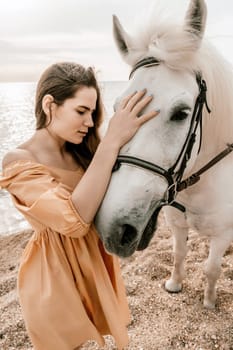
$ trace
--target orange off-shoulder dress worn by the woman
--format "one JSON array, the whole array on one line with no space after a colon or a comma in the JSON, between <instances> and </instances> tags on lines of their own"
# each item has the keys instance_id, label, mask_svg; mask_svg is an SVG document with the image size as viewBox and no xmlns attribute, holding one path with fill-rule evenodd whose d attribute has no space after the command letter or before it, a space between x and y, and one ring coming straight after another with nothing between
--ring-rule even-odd
<instances>
[{"instance_id":1,"label":"orange off-shoulder dress worn by the woman","mask_svg":"<svg viewBox=\"0 0 233 350\"><path fill-rule=\"evenodd\" d=\"M20 262L19 300L35 350L73 350L111 334L128 344L129 309L118 258L109 255L93 224L71 201L83 171L19 160L0 188L34 229Z\"/></svg>"}]
</instances>

